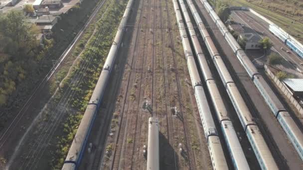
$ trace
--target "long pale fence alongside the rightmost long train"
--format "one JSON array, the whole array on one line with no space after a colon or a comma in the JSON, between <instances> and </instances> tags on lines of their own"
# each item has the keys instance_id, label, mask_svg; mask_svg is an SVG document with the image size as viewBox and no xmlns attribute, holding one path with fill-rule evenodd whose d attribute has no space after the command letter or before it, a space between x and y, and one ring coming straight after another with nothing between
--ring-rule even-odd
<instances>
[{"instance_id":1,"label":"long pale fence alongside the rightmost long train","mask_svg":"<svg viewBox=\"0 0 303 170\"><path fill-rule=\"evenodd\" d=\"M300 105L300 103L293 97L293 94L290 92L289 88L284 85L267 67L267 65L264 65L265 71L269 74L269 76L274 80L275 84L281 89L281 91L284 93L285 96L289 99L289 101L294 105L294 107L297 109L297 111L300 113L300 115L303 115L303 108Z\"/></svg>"}]
</instances>

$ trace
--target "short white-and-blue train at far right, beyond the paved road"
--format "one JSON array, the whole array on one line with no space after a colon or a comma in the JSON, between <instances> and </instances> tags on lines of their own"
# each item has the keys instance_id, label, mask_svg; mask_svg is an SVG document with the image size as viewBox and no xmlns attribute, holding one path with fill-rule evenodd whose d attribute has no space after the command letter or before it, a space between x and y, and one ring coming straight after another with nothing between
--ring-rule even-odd
<instances>
[{"instance_id":1,"label":"short white-and-blue train at far right, beyond the paved road","mask_svg":"<svg viewBox=\"0 0 303 170\"><path fill-rule=\"evenodd\" d=\"M277 25L270 24L269 30L278 37L285 45L293 50L299 57L303 59L303 45L293 39L288 33L281 30Z\"/></svg>"}]
</instances>

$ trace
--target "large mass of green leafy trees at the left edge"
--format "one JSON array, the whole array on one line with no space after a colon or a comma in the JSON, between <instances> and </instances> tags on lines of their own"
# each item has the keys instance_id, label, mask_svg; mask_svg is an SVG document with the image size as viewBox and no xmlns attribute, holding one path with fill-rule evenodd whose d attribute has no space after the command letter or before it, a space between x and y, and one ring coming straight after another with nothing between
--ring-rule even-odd
<instances>
[{"instance_id":1,"label":"large mass of green leafy trees at the left edge","mask_svg":"<svg viewBox=\"0 0 303 170\"><path fill-rule=\"evenodd\" d=\"M0 15L0 106L7 104L16 85L33 67L38 51L36 25L22 11Z\"/></svg>"}]
</instances>

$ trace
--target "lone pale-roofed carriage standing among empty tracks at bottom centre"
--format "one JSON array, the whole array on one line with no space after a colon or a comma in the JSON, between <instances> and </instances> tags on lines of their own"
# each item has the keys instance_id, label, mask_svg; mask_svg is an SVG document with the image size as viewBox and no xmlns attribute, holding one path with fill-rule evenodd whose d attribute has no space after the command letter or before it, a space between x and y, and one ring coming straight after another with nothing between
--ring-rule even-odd
<instances>
[{"instance_id":1,"label":"lone pale-roofed carriage standing among empty tracks at bottom centre","mask_svg":"<svg viewBox=\"0 0 303 170\"><path fill-rule=\"evenodd\" d=\"M159 124L155 117L149 118L147 170L159 170Z\"/></svg>"}]
</instances>

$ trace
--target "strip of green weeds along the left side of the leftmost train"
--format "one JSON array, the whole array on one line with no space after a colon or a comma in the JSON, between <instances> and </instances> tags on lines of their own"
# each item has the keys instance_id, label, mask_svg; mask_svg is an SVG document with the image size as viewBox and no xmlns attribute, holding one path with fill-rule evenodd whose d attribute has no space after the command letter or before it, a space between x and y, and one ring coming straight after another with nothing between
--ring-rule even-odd
<instances>
[{"instance_id":1,"label":"strip of green weeds along the left side of the leftmost train","mask_svg":"<svg viewBox=\"0 0 303 170\"><path fill-rule=\"evenodd\" d=\"M55 139L52 139L50 144L50 167L55 169L60 169L63 165L65 157L68 153L69 147L73 141L73 138L76 134L78 125L81 121L82 114L86 109L87 103L92 95L93 89L99 79L99 75L103 68L103 63L106 59L108 51L111 47L113 37L116 34L117 27L120 23L121 17L123 15L124 9L127 4L127 0L120 1L116 3L115 0L109 0L106 3L110 3L109 5L104 5L102 9L99 11L97 18L101 18L102 14L104 18L99 19L96 24L90 25L91 27L97 27L97 30L102 29L101 32L101 41L97 46L93 46L93 42L97 39L98 31L96 31L90 41L86 45L84 51L80 55L80 60L77 64L72 68L72 72L69 77L64 79L60 84L59 92L55 96L55 101L53 102L56 105L60 98L64 95L64 92L71 88L75 95L69 98L71 101L70 108L66 109L69 112L67 118L64 118L61 123L60 132L57 133ZM106 12L104 10L107 8ZM118 16L118 17L117 17ZM113 29L113 25L115 25L115 29ZM72 55L79 54L77 48L84 48L84 42L86 42L89 38L89 32L83 36L83 39L80 41L76 50ZM80 66L85 64L89 60L89 56L93 56L93 59L90 63L90 67L87 70L80 70ZM79 85L74 87L72 86L72 78L75 76L75 73L81 72L84 75L84 78ZM62 131L63 129L63 131Z\"/></svg>"}]
</instances>

